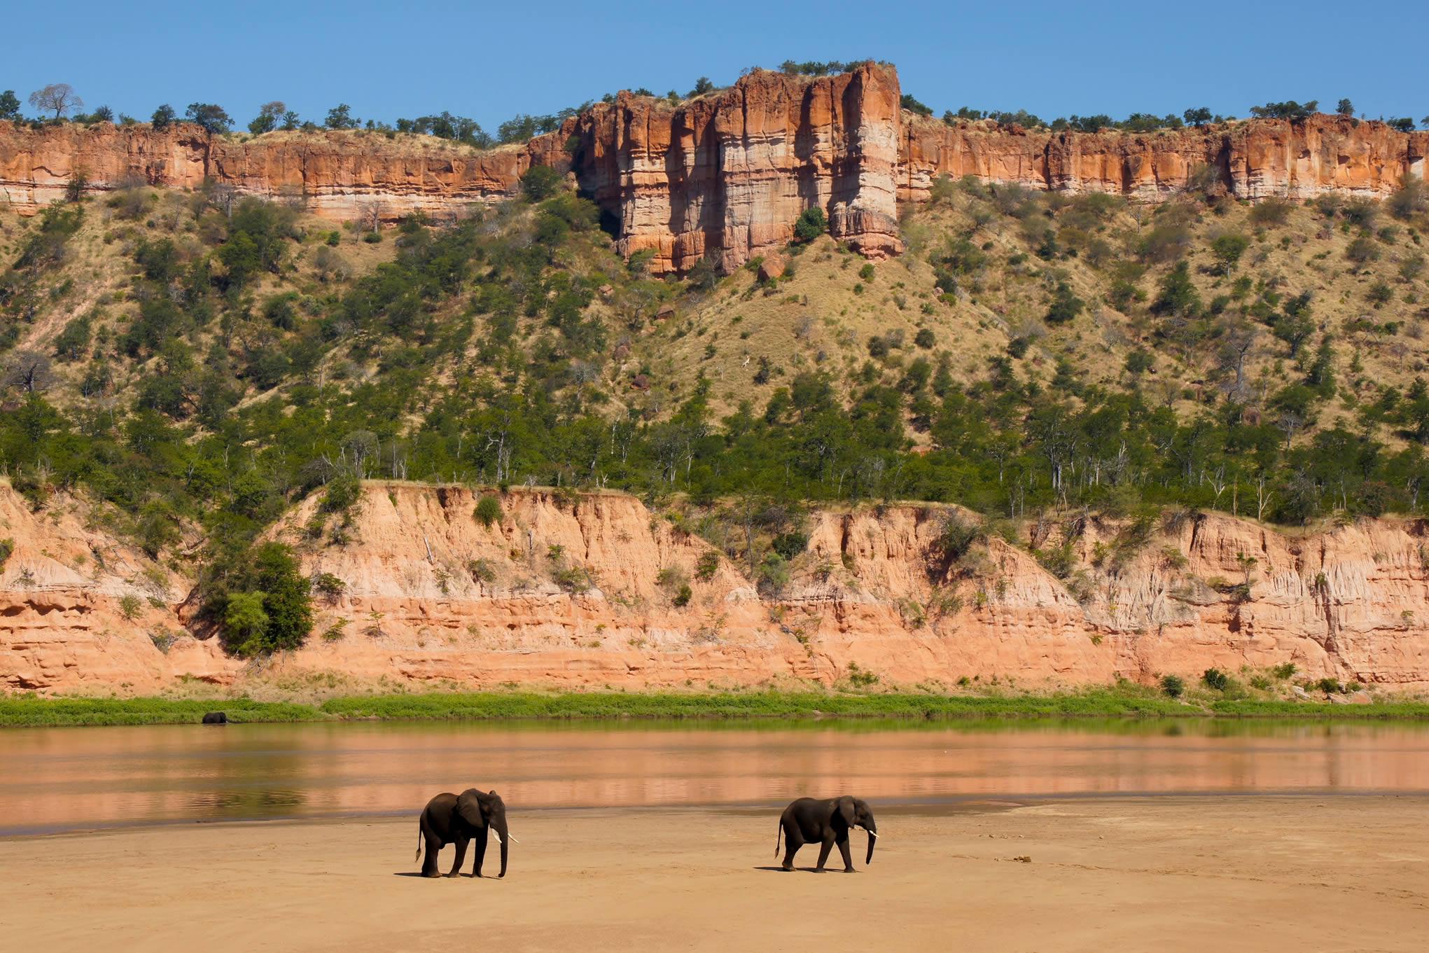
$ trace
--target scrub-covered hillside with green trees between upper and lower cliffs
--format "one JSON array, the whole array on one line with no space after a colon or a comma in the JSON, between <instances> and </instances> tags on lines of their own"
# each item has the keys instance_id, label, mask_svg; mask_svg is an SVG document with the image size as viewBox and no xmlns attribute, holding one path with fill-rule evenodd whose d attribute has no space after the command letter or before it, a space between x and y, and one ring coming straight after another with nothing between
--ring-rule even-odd
<instances>
[{"instance_id":1,"label":"scrub-covered hillside with green trees between upper and lower cliffs","mask_svg":"<svg viewBox=\"0 0 1429 953\"><path fill-rule=\"evenodd\" d=\"M99 500L174 569L196 549L197 623L240 654L302 643L342 586L264 530L372 476L492 487L474 519L516 483L624 489L770 590L815 502L959 503L1059 576L1059 516L1419 513L1419 181L1149 207L942 179L902 259L810 213L777 276L664 280L552 170L523 191L396 230L219 187L0 211L13 486Z\"/></svg>"}]
</instances>

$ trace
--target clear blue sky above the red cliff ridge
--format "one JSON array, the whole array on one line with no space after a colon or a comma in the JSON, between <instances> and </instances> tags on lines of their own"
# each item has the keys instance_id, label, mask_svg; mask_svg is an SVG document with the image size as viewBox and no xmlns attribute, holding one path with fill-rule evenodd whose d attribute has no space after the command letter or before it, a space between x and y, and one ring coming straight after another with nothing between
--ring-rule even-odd
<instances>
[{"instance_id":1,"label":"clear blue sky above the red cliff ridge","mask_svg":"<svg viewBox=\"0 0 1429 953\"><path fill-rule=\"evenodd\" d=\"M1396 9L1398 7L1398 9ZM31 11L39 13L39 11ZM619 89L689 90L786 59L880 59L935 110L1246 116L1268 100L1348 96L1359 111L1429 114L1420 3L176 3L73 0L20 26L0 90L70 83L89 109L223 106L243 126L279 99L393 121L452 110L489 131ZM29 111L29 107L26 107Z\"/></svg>"}]
</instances>

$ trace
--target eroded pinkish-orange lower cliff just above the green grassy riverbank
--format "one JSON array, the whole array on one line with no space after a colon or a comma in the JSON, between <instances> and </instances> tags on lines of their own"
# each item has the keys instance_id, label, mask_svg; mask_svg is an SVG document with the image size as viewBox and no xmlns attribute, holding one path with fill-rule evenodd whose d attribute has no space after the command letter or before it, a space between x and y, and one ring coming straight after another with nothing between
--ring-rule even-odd
<instances>
[{"instance_id":1,"label":"eroded pinkish-orange lower cliff just above the green grassy riverbank","mask_svg":"<svg viewBox=\"0 0 1429 953\"><path fill-rule=\"evenodd\" d=\"M943 509L816 512L789 586L760 594L742 564L713 563L704 540L634 497L513 490L502 504L487 527L467 489L369 484L342 543L314 543L316 500L299 506L277 536L342 587L319 599L306 647L250 666L184 632L177 580L160 594L154 580L167 577L84 529L79 503L37 516L0 487L16 539L0 574L0 686L144 692L336 673L350 684L649 689L866 672L882 684L1047 689L1292 662L1310 679L1429 689L1420 523L1289 537L1212 514L1123 549L1115 566L1097 543L1116 527L1093 524L1069 589L996 539L946 566ZM1246 593L1233 589L1242 557L1255 560Z\"/></svg>"}]
</instances>

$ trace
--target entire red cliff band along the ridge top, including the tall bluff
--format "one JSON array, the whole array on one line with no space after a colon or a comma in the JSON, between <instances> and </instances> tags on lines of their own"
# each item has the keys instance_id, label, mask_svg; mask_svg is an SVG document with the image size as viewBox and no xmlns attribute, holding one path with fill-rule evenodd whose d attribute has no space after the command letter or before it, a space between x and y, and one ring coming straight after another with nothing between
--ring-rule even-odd
<instances>
[{"instance_id":1,"label":"entire red cliff band along the ridge top, including the tall bluff","mask_svg":"<svg viewBox=\"0 0 1429 953\"><path fill-rule=\"evenodd\" d=\"M533 164L573 173L600 204L624 254L650 270L725 270L785 246L806 209L869 257L902 249L897 203L927 197L937 176L1029 189L1157 199L1206 170L1239 197L1323 191L1383 196L1423 177L1429 133L1315 116L1205 129L1033 133L946 123L899 109L897 73L866 63L840 76L756 70L735 86L672 104L620 93L524 146L477 151L372 131L210 139L196 126L0 123L0 206L31 213L83 179L194 189L206 180L290 197L336 219L376 211L453 213L517 194Z\"/></svg>"}]
</instances>

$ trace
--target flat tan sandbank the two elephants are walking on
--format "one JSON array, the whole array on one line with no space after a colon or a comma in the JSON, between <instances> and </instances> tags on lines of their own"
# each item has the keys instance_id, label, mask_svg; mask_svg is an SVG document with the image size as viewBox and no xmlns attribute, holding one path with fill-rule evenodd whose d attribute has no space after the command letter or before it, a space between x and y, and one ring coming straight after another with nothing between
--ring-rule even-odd
<instances>
[{"instance_id":1,"label":"flat tan sandbank the two elephants are walking on","mask_svg":"<svg viewBox=\"0 0 1429 953\"><path fill-rule=\"evenodd\" d=\"M1429 923L1423 797L886 809L856 876L762 869L775 816L513 807L504 880L412 876L414 814L9 839L0 934L46 952L1203 953L1420 950Z\"/></svg>"}]
</instances>

